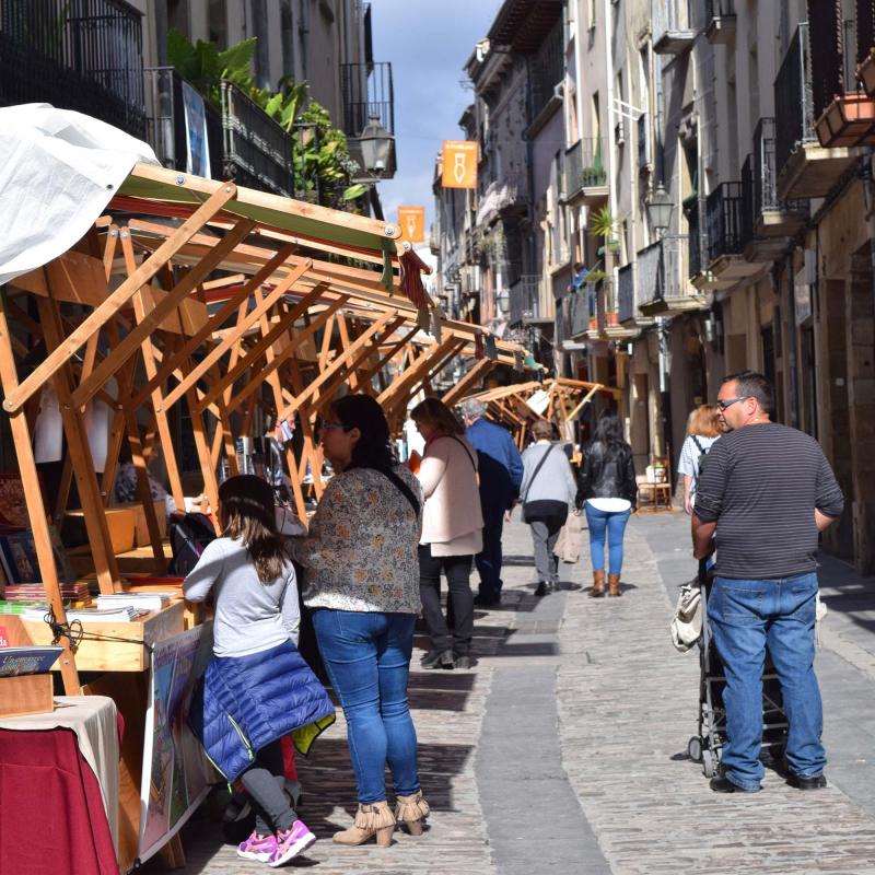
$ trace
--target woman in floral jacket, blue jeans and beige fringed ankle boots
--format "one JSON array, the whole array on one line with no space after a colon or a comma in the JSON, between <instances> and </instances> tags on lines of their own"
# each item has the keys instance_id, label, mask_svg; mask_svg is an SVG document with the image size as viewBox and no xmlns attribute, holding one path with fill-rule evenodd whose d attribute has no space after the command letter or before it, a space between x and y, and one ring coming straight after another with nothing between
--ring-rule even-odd
<instances>
[{"instance_id":1,"label":"woman in floral jacket, blue jeans and beige fringed ankle boots","mask_svg":"<svg viewBox=\"0 0 875 875\"><path fill-rule=\"evenodd\" d=\"M319 425L335 477L294 557L305 567L304 603L331 687L347 719L359 808L340 844L376 838L388 845L396 818L422 832L429 805L417 769L417 735L407 704L413 622L420 609L422 493L396 465L389 429L368 395L335 401ZM386 802L388 762L396 810Z\"/></svg>"}]
</instances>

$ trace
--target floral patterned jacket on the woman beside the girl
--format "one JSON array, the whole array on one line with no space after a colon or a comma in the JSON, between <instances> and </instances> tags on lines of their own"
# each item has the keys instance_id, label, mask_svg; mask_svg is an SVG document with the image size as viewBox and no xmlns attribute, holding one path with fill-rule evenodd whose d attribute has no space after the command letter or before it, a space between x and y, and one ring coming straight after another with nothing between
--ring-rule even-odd
<instances>
[{"instance_id":1,"label":"floral patterned jacket on the woman beside the girl","mask_svg":"<svg viewBox=\"0 0 875 875\"><path fill-rule=\"evenodd\" d=\"M422 502L404 466L395 469ZM417 614L422 515L385 475L353 468L331 479L310 523L292 541L306 569L304 603L311 608Z\"/></svg>"}]
</instances>

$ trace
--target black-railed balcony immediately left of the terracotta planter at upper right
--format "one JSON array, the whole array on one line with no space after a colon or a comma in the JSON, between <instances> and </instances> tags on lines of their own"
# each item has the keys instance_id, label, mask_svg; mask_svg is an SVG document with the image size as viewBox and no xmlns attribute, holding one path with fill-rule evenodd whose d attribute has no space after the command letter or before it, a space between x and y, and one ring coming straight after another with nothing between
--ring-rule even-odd
<instances>
[{"instance_id":1,"label":"black-railed balcony immediately left of the terracotta planter at upper right","mask_svg":"<svg viewBox=\"0 0 875 875\"><path fill-rule=\"evenodd\" d=\"M778 71L774 106L778 197L782 200L825 197L860 152L825 148L817 140L807 23L796 28Z\"/></svg>"}]
</instances>

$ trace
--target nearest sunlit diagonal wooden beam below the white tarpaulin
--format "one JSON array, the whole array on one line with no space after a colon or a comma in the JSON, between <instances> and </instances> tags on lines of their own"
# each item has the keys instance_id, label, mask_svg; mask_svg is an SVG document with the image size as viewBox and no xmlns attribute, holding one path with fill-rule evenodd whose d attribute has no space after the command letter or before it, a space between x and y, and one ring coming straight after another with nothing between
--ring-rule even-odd
<instances>
[{"instance_id":1,"label":"nearest sunlit diagonal wooden beam below the white tarpaulin","mask_svg":"<svg viewBox=\"0 0 875 875\"><path fill-rule=\"evenodd\" d=\"M224 183L217 188L205 203L198 207L189 219L171 234L164 243L152 253L149 258L129 276L100 306L95 307L82 324L65 339L63 345L54 350L40 362L31 375L19 384L12 393L3 399L3 409L8 413L15 412L34 393L58 370L69 361L70 357L81 349L89 338L100 329L117 311L124 306L137 290L149 282L152 277L166 264L175 253L196 234L209 219L218 213L236 194L236 186ZM108 376L108 374L106 374ZM103 382L103 381L102 381ZM97 385L102 385L102 382ZM88 399L85 399L88 400ZM84 401L80 400L77 406Z\"/></svg>"}]
</instances>

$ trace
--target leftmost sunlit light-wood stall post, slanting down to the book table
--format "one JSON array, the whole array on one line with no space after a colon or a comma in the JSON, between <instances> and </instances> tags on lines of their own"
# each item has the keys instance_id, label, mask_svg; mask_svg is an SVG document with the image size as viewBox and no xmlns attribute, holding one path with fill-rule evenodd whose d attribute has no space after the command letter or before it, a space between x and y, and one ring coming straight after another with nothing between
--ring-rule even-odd
<instances>
[{"instance_id":1,"label":"leftmost sunlit light-wood stall post, slanting down to the book table","mask_svg":"<svg viewBox=\"0 0 875 875\"><path fill-rule=\"evenodd\" d=\"M2 291L0 291L0 382L3 385L4 395L14 390L19 385L15 359L12 354L12 334L9 330L7 320L7 296ZM31 522L31 530L34 536L36 561L39 564L39 574L43 578L43 588L46 591L46 598L55 612L55 619L60 623L66 623L67 614L63 610L58 568L51 549L48 516L46 515L46 506L43 503L43 491L39 488L39 475L34 459L33 438L22 409L19 409L9 418L9 425L19 460L19 474L24 490L24 501L27 505L27 518ZM63 691L68 696L79 696L81 688L79 674L75 670L75 660L73 652L70 650L70 639L61 638L58 643L63 648L63 652L60 655Z\"/></svg>"}]
</instances>

